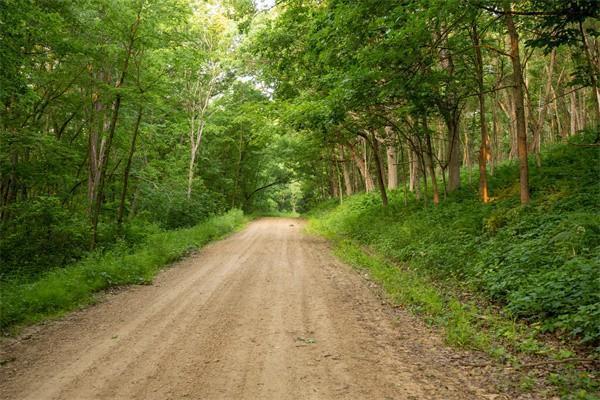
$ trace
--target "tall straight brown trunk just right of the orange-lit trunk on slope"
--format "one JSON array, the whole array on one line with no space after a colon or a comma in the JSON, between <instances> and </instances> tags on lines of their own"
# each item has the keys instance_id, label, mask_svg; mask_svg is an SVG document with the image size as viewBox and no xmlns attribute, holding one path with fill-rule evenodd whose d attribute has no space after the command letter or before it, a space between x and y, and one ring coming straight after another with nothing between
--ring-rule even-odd
<instances>
[{"instance_id":1,"label":"tall straight brown trunk just right of the orange-lit trunk on slope","mask_svg":"<svg viewBox=\"0 0 600 400\"><path fill-rule=\"evenodd\" d=\"M523 73L519 54L519 34L515 27L510 2L505 5L505 22L510 36L510 58L513 66L514 101L517 117L517 149L519 151L519 185L521 204L529 203L529 165L527 161L527 126L525 125L525 104L523 100Z\"/></svg>"}]
</instances>

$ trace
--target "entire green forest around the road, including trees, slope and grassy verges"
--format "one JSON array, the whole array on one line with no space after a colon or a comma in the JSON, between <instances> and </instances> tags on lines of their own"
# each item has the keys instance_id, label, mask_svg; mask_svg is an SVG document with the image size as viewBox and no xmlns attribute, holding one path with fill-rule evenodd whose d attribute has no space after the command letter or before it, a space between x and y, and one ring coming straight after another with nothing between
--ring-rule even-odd
<instances>
[{"instance_id":1,"label":"entire green forest around the road, including trees, slope and grassy verges","mask_svg":"<svg viewBox=\"0 0 600 400\"><path fill-rule=\"evenodd\" d=\"M599 17L597 0L3 0L0 328L301 214L454 344L597 360ZM573 374L572 398L595 398Z\"/></svg>"}]
</instances>

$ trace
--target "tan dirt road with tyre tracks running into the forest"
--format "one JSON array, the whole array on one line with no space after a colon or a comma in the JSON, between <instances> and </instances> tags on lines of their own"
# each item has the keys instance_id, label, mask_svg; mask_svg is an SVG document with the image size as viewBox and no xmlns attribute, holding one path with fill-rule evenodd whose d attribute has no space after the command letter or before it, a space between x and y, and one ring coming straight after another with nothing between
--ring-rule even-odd
<instances>
[{"instance_id":1,"label":"tan dirt road with tyre tracks running into the forest","mask_svg":"<svg viewBox=\"0 0 600 400\"><path fill-rule=\"evenodd\" d=\"M505 398L302 224L255 221L3 343L0 398Z\"/></svg>"}]
</instances>

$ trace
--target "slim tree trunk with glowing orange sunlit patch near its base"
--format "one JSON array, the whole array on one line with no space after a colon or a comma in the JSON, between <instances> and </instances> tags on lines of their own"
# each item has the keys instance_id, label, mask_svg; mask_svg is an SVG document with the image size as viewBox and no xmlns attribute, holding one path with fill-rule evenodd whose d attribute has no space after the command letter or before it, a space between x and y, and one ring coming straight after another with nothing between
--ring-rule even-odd
<instances>
[{"instance_id":1,"label":"slim tree trunk with glowing orange sunlit patch near its base","mask_svg":"<svg viewBox=\"0 0 600 400\"><path fill-rule=\"evenodd\" d=\"M479 195L484 203L490 201L488 182L487 182L487 161L490 158L490 143L487 130L487 121L485 118L485 97L483 87L483 58L481 56L481 47L479 32L476 23L471 25L471 38L475 48L475 75L477 77L477 98L479 99L479 124L481 125L481 145L479 146Z\"/></svg>"}]
</instances>

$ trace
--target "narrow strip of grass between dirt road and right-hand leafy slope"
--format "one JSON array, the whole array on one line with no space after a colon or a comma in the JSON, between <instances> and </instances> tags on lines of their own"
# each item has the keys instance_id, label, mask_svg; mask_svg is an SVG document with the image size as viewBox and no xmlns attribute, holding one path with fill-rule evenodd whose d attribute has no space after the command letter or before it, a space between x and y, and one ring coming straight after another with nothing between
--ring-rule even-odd
<instances>
[{"instance_id":1,"label":"narrow strip of grass between dirt road and right-hand leafy slope","mask_svg":"<svg viewBox=\"0 0 600 400\"><path fill-rule=\"evenodd\" d=\"M502 315L492 305L465 301L458 288L444 287L372 249L341 238L317 219L310 220L308 230L329 239L339 259L367 272L392 304L440 328L449 345L482 351L513 369L518 378L511 382L512 390L548 398L558 394L569 400L600 399L597 371L570 362L581 357L574 349L544 341L535 328Z\"/></svg>"}]
</instances>

